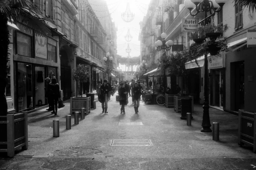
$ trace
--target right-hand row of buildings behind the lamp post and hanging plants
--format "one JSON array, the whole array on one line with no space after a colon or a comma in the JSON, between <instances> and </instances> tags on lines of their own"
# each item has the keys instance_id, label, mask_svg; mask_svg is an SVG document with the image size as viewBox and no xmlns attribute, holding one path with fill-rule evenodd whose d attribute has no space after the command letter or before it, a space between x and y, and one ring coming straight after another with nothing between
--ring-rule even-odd
<instances>
[{"instance_id":1,"label":"right-hand row of buildings behind the lamp post and hanging plants","mask_svg":"<svg viewBox=\"0 0 256 170\"><path fill-rule=\"evenodd\" d=\"M196 9L193 9L192 13L196 13ZM183 48L189 48L194 41L190 39L188 32L181 31L181 25L182 19L192 18L194 17L184 7L183 0L151 1L147 15L142 22L141 56L150 54L145 48L147 40L152 37L149 36L148 31L144 30L151 28L155 30L155 33L160 31L159 34L155 34L153 42L158 39L160 33L165 32L167 34L166 41L171 39L174 45L183 45ZM201 21L204 19L204 15L198 14L195 18ZM229 29L220 37L229 45L229 52L221 53L219 56L208 56L208 91L210 106L214 108L233 113L237 113L239 109L256 110L256 106L253 104L256 102L254 97L255 80L253 79L256 73L253 67L255 47L247 48L247 30L255 29L255 18L255 12L233 1L228 1L219 13L211 17L209 24L227 24L229 26ZM153 24L151 24L151 28L147 28L150 22ZM147 38L143 36L143 33L146 33ZM167 55L173 52L173 48L171 48ZM149 59L157 62L160 56L161 52L155 50L154 58L149 57ZM188 78L176 77L176 82L173 82L179 84L186 94L193 95L197 103L202 104L205 74L204 56L197 57L199 66L195 61L189 61L185 64L186 69L189 70Z\"/></svg>"}]
</instances>

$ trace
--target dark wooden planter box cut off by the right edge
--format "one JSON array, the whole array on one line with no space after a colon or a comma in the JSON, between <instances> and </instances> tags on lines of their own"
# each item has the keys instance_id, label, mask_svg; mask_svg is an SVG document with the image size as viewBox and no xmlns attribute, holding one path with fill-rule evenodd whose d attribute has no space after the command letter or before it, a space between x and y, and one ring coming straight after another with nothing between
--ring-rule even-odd
<instances>
[{"instance_id":1,"label":"dark wooden planter box cut off by the right edge","mask_svg":"<svg viewBox=\"0 0 256 170\"><path fill-rule=\"evenodd\" d=\"M256 113L238 112L238 145L248 145L256 151Z\"/></svg>"}]
</instances>

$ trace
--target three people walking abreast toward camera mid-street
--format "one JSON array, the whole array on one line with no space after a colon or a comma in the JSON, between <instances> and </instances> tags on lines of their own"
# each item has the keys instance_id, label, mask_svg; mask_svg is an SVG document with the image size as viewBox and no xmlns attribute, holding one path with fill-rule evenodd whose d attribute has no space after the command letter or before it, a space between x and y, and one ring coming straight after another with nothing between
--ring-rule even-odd
<instances>
[{"instance_id":1,"label":"three people walking abreast toward camera mid-street","mask_svg":"<svg viewBox=\"0 0 256 170\"><path fill-rule=\"evenodd\" d=\"M135 82L133 79L131 80L131 84L129 85L127 81L119 82L117 87L118 95L121 97L119 100L119 104L121 105L121 114L125 114L125 105L128 104L128 96L132 97L132 104L134 104L134 111L138 113L138 108L140 106L140 98L141 98L141 84L140 82ZM97 95L99 97L99 101L102 106L102 113L108 113L108 100L110 100L112 88L111 84L108 83L106 79L103 80L103 84L100 82L97 84L96 88ZM130 94L131 92L131 94Z\"/></svg>"}]
</instances>

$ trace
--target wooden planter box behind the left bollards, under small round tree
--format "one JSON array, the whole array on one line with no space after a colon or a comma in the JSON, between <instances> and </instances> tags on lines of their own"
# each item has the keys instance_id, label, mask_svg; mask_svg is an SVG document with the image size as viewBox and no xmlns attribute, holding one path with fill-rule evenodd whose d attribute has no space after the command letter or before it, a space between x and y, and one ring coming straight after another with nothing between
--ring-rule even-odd
<instances>
[{"instance_id":1,"label":"wooden planter box behind the left bollards, under small round tree","mask_svg":"<svg viewBox=\"0 0 256 170\"><path fill-rule=\"evenodd\" d=\"M81 108L87 115L91 112L91 97L70 97L70 114L81 113Z\"/></svg>"}]
</instances>

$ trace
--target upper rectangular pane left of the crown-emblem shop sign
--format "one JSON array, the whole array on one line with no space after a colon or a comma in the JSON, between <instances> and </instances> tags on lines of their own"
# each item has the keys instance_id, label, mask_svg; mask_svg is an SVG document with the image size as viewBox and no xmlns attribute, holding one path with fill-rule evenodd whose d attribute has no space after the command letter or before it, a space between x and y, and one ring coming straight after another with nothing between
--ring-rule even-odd
<instances>
[{"instance_id":1,"label":"upper rectangular pane left of the crown-emblem shop sign","mask_svg":"<svg viewBox=\"0 0 256 170\"><path fill-rule=\"evenodd\" d=\"M32 37L17 32L17 54L32 57Z\"/></svg>"}]
</instances>

